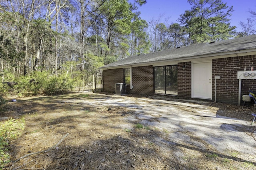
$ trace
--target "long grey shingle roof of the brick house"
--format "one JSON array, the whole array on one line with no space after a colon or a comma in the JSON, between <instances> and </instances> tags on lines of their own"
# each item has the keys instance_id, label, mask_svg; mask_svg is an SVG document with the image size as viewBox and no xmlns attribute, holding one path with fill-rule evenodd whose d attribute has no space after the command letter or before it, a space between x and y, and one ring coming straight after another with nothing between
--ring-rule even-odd
<instances>
[{"instance_id":1,"label":"long grey shingle roof of the brick house","mask_svg":"<svg viewBox=\"0 0 256 170\"><path fill-rule=\"evenodd\" d=\"M100 67L100 69L152 62L164 62L167 60L184 60L189 57L202 58L206 57L206 55L208 55L207 57L210 57L228 52L239 53L245 50L256 51L256 35L217 41L214 43L194 44L176 49L167 49L145 55L132 56L114 63L106 64Z\"/></svg>"}]
</instances>

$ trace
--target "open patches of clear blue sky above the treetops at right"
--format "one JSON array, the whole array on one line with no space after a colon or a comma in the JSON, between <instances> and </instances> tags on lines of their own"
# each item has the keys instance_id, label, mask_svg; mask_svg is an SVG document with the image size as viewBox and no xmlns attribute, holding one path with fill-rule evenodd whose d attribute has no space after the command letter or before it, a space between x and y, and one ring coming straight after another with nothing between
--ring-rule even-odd
<instances>
[{"instance_id":1,"label":"open patches of clear blue sky above the treetops at right","mask_svg":"<svg viewBox=\"0 0 256 170\"><path fill-rule=\"evenodd\" d=\"M134 0L129 0L134 2ZM249 10L256 12L256 0L222 0L227 3L227 6L233 6L234 12L230 17L231 26L236 26L236 31L242 31L239 23L240 21L246 22L247 18L250 18L251 14ZM150 20L158 20L160 16L161 22L165 23L165 20L169 18L168 23L178 23L180 14L183 14L185 10L190 10L192 6L188 4L187 0L147 0L147 3L140 6L138 11L141 12L140 17L142 20L149 22Z\"/></svg>"}]
</instances>

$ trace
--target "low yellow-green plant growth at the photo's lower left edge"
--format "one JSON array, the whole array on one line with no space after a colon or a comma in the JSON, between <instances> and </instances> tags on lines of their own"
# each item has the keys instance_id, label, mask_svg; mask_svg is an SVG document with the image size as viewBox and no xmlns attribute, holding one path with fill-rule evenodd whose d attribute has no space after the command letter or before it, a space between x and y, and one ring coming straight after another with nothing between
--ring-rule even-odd
<instances>
[{"instance_id":1,"label":"low yellow-green plant growth at the photo's lower left edge","mask_svg":"<svg viewBox=\"0 0 256 170\"><path fill-rule=\"evenodd\" d=\"M9 142L17 139L20 132L24 129L24 119L8 119L0 125L0 168L10 162L10 156L7 153Z\"/></svg>"}]
</instances>

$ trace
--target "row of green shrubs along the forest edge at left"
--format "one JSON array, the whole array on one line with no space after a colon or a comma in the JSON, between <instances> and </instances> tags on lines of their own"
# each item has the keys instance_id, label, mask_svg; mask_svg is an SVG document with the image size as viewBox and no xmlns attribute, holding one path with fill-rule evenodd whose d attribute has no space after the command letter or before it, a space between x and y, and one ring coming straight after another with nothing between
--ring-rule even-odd
<instances>
[{"instance_id":1,"label":"row of green shrubs along the forest edge at left","mask_svg":"<svg viewBox=\"0 0 256 170\"><path fill-rule=\"evenodd\" d=\"M81 75L82 76L82 75ZM12 75L8 75L8 81L17 82L17 85L9 87L7 84L0 83L0 96L13 95L18 96L34 96L38 94L61 94L70 92L75 85L82 86L83 78L76 76L72 79L69 74L52 75L50 72L33 72L30 75L19 76L14 79ZM0 103L1 103L0 98ZM4 101L3 101L4 102Z\"/></svg>"}]
</instances>

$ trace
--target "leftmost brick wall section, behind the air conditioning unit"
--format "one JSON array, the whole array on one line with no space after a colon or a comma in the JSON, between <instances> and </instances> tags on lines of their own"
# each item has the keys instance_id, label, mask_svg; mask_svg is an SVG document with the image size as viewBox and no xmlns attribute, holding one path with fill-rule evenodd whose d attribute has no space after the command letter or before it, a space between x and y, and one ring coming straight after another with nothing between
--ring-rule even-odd
<instances>
[{"instance_id":1,"label":"leftmost brick wall section, behind the air conditioning unit","mask_svg":"<svg viewBox=\"0 0 256 170\"><path fill-rule=\"evenodd\" d=\"M124 68L103 70L103 92L116 92L116 83L124 83Z\"/></svg>"}]
</instances>

